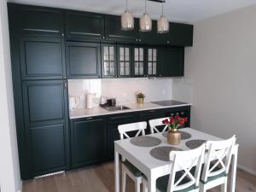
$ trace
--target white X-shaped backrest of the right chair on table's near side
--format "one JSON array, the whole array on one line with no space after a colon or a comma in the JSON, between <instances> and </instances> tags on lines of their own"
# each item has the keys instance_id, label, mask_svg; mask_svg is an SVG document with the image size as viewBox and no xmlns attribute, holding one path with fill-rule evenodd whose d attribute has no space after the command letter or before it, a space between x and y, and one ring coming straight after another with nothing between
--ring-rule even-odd
<instances>
[{"instance_id":1,"label":"white X-shaped backrest of the right chair on table's near side","mask_svg":"<svg viewBox=\"0 0 256 192\"><path fill-rule=\"evenodd\" d=\"M201 179L207 182L208 177L222 172L229 173L232 149L236 143L236 136L222 141L207 141L206 157Z\"/></svg>"}]
</instances>

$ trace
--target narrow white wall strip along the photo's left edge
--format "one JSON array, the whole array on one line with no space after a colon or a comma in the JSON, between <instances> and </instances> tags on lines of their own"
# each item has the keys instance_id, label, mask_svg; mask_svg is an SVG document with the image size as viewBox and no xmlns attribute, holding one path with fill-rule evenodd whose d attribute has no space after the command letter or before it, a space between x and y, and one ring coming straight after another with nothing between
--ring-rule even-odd
<instances>
[{"instance_id":1,"label":"narrow white wall strip along the photo's left edge","mask_svg":"<svg viewBox=\"0 0 256 192\"><path fill-rule=\"evenodd\" d=\"M15 130L9 26L6 0L0 1L0 186L1 192L21 189Z\"/></svg>"}]
</instances>

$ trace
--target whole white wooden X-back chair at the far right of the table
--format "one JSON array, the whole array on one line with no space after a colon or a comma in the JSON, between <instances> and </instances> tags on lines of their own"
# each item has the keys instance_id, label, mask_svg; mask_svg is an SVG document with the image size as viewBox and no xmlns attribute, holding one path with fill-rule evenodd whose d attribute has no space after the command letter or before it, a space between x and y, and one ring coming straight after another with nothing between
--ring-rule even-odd
<instances>
[{"instance_id":1,"label":"whole white wooden X-back chair at the far right of the table","mask_svg":"<svg viewBox=\"0 0 256 192\"><path fill-rule=\"evenodd\" d=\"M205 165L201 174L200 191L205 192L221 185L221 191L227 191L231 152L236 136L223 141L207 141Z\"/></svg>"}]
</instances>

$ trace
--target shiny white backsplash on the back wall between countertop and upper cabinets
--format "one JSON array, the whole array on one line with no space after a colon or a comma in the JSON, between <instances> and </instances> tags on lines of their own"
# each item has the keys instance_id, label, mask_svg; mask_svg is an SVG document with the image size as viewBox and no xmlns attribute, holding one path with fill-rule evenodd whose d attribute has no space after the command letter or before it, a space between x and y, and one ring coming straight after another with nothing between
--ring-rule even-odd
<instances>
[{"instance_id":1,"label":"shiny white backsplash on the back wall between countertop and upper cabinets","mask_svg":"<svg viewBox=\"0 0 256 192\"><path fill-rule=\"evenodd\" d=\"M80 98L76 108L85 108L86 93L96 93L95 107L101 96L114 97L117 104L135 103L136 92L143 91L145 102L172 99L172 79L73 79L68 80L68 96Z\"/></svg>"}]
</instances>

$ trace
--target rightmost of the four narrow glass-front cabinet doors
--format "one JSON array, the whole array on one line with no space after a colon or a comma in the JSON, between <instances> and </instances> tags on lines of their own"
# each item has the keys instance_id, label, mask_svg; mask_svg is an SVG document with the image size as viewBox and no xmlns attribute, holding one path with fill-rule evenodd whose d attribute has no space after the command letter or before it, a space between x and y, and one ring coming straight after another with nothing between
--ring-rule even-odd
<instances>
[{"instance_id":1,"label":"rightmost of the four narrow glass-front cabinet doors","mask_svg":"<svg viewBox=\"0 0 256 192\"><path fill-rule=\"evenodd\" d=\"M157 49L148 48L147 76L157 75Z\"/></svg>"}]
</instances>

